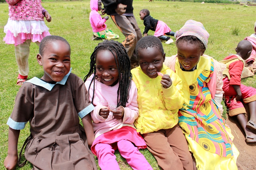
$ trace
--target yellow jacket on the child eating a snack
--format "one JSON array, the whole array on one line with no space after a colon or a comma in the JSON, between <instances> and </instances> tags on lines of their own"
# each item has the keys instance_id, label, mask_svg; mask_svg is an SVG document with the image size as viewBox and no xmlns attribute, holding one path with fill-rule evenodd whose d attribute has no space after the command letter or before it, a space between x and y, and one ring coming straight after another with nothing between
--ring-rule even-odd
<instances>
[{"instance_id":1,"label":"yellow jacket on the child eating a snack","mask_svg":"<svg viewBox=\"0 0 256 170\"><path fill-rule=\"evenodd\" d=\"M184 103L179 76L164 65L161 73L172 79L171 87L165 89L160 83L161 76L149 78L140 66L131 72L138 89L139 117L134 122L137 131L143 134L174 127L178 123L178 110Z\"/></svg>"}]
</instances>

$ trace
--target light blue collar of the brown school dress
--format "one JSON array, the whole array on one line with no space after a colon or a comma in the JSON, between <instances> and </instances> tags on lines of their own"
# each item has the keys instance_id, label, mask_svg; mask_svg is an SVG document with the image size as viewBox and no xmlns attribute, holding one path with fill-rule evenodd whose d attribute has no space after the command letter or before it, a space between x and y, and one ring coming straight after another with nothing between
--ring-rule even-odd
<instances>
[{"instance_id":1,"label":"light blue collar of the brown school dress","mask_svg":"<svg viewBox=\"0 0 256 170\"><path fill-rule=\"evenodd\" d=\"M61 81L56 82L56 84L65 85L65 83L68 79L68 76L71 73L71 70L72 70L72 68L70 68L68 74L66 76L64 76L64 78ZM46 82L44 82L43 80L41 80L40 78L37 78L37 77L31 78L30 80L25 81L24 83L32 83L33 85L38 85L38 86L44 87L45 89L47 89L49 91L51 91L52 88L54 87L54 85L56 85L56 84L46 83Z\"/></svg>"}]
</instances>

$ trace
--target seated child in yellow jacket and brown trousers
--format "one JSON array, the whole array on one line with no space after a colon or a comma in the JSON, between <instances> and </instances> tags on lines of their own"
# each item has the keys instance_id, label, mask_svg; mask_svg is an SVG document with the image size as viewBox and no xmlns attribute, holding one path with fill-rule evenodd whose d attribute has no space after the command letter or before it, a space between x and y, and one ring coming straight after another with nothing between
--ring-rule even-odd
<instances>
[{"instance_id":1,"label":"seated child in yellow jacket and brown trousers","mask_svg":"<svg viewBox=\"0 0 256 170\"><path fill-rule=\"evenodd\" d=\"M191 170L192 157L178 125L184 102L181 79L163 65L165 53L157 37L141 38L136 55L140 66L131 72L138 89L139 117L134 125L162 169Z\"/></svg>"}]
</instances>

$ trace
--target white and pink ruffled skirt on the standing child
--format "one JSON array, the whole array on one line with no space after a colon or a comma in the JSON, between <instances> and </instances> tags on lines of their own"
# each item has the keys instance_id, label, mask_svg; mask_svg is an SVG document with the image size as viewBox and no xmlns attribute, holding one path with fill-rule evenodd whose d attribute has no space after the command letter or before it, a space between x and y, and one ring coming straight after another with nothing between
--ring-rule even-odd
<instances>
[{"instance_id":1,"label":"white and pink ruffled skirt on the standing child","mask_svg":"<svg viewBox=\"0 0 256 170\"><path fill-rule=\"evenodd\" d=\"M44 21L36 20L11 20L8 19L6 26L4 26L4 41L6 44L22 44L26 40L32 42L41 42L42 39L48 35L49 28Z\"/></svg>"}]
</instances>

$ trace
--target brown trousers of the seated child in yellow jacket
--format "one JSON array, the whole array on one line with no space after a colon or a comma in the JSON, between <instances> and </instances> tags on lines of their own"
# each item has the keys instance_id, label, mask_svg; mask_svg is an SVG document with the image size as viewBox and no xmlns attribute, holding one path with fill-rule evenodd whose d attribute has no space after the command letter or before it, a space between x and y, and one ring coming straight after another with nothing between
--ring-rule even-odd
<instances>
[{"instance_id":1,"label":"brown trousers of the seated child in yellow jacket","mask_svg":"<svg viewBox=\"0 0 256 170\"><path fill-rule=\"evenodd\" d=\"M162 169L193 170L188 143L178 124L171 129L142 134L142 137Z\"/></svg>"}]
</instances>

